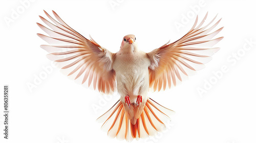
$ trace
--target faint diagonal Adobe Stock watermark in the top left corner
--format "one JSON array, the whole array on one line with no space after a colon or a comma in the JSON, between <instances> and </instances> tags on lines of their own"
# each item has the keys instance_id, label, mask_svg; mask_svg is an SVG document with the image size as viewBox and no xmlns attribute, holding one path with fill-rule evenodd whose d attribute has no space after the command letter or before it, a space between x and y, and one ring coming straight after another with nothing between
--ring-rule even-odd
<instances>
[{"instance_id":1,"label":"faint diagonal Adobe Stock watermark in the top left corner","mask_svg":"<svg viewBox=\"0 0 256 143\"><path fill-rule=\"evenodd\" d=\"M9 16L5 16L4 20L8 27L10 27L10 24L13 23L16 19L19 18L20 15L22 15L26 9L28 9L32 3L34 3L36 0L20 0L19 6L16 8L11 9L11 14Z\"/></svg>"}]
</instances>

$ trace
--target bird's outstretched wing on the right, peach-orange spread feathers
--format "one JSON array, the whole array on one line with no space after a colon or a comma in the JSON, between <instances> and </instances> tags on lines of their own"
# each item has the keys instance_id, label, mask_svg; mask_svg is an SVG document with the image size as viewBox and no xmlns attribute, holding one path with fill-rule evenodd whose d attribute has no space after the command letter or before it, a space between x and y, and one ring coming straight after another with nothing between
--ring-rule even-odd
<instances>
[{"instance_id":1,"label":"bird's outstretched wing on the right, peach-orange spread feathers","mask_svg":"<svg viewBox=\"0 0 256 143\"><path fill-rule=\"evenodd\" d=\"M150 74L150 88L154 91L160 91L168 85L176 85L177 80L182 81L181 74L187 75L187 70L199 70L200 66L211 60L211 55L219 50L219 48L211 48L223 37L211 40L217 35L223 27L217 31L208 34L214 29L218 23L217 21L211 27L208 26L216 19L211 20L206 26L202 27L207 14L202 22L196 27L196 22L191 30L181 39L166 43L158 49L148 52L148 58L151 60L151 65L148 67ZM178 78L178 79L177 79ZM173 82L173 83L172 83Z\"/></svg>"}]
</instances>

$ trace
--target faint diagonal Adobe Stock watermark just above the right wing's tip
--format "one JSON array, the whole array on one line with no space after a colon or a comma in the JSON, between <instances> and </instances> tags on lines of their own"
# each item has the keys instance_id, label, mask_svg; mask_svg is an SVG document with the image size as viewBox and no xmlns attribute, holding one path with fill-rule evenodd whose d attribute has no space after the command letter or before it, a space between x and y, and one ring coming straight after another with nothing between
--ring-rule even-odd
<instances>
[{"instance_id":1,"label":"faint diagonal Adobe Stock watermark just above the right wing's tip","mask_svg":"<svg viewBox=\"0 0 256 143\"><path fill-rule=\"evenodd\" d=\"M180 22L175 21L174 25L178 32L180 32L180 28L185 27L185 25L192 19L195 19L197 14L200 12L201 8L205 7L206 3L204 0L198 1L197 5L189 6L190 10L187 11L186 14L181 14Z\"/></svg>"}]
</instances>

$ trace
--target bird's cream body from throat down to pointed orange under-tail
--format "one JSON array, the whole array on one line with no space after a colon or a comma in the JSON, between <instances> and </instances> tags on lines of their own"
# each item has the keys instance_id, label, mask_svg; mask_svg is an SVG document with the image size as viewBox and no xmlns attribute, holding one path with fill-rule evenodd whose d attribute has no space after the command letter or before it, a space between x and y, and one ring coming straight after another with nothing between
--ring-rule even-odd
<instances>
[{"instance_id":1,"label":"bird's cream body from throat down to pointed orange under-tail","mask_svg":"<svg viewBox=\"0 0 256 143\"><path fill-rule=\"evenodd\" d=\"M125 112L133 124L136 123L147 100L148 66L150 66L150 59L145 52L137 48L135 43L121 46L120 51L115 54L113 69L116 71L117 91ZM125 103L125 96L129 96L131 106ZM142 101L137 105L138 96L142 97Z\"/></svg>"}]
</instances>

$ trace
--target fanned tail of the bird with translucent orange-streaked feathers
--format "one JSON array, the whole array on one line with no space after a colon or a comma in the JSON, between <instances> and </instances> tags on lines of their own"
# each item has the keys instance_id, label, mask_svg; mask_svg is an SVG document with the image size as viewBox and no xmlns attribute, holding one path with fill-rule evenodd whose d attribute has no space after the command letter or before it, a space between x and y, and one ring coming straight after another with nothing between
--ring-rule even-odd
<instances>
[{"instance_id":1,"label":"fanned tail of the bird with translucent orange-streaked feathers","mask_svg":"<svg viewBox=\"0 0 256 143\"><path fill-rule=\"evenodd\" d=\"M153 136L165 129L165 123L170 120L167 115L174 112L167 109L151 98L148 98L144 109L133 125L125 115L125 110L120 100L97 120L104 122L102 130L107 131L112 138L132 141L134 138Z\"/></svg>"}]
</instances>

